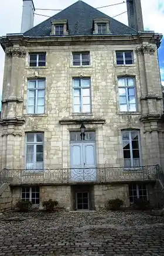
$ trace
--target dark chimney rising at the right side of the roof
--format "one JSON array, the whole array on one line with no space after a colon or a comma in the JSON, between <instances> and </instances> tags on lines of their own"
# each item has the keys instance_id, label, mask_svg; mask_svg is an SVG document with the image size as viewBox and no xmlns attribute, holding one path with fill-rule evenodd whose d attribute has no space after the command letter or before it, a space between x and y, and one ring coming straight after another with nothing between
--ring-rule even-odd
<instances>
[{"instance_id":1,"label":"dark chimney rising at the right side of the roof","mask_svg":"<svg viewBox=\"0 0 164 256\"><path fill-rule=\"evenodd\" d=\"M136 31L143 31L141 0L127 0L128 25Z\"/></svg>"}]
</instances>

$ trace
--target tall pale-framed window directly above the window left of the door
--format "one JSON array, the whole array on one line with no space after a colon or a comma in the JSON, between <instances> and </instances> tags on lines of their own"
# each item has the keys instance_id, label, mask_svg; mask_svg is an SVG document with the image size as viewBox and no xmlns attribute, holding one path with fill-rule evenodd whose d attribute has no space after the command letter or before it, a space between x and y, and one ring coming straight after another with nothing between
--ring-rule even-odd
<instances>
[{"instance_id":1,"label":"tall pale-framed window directly above the window left of the door","mask_svg":"<svg viewBox=\"0 0 164 256\"><path fill-rule=\"evenodd\" d=\"M45 113L45 79L28 81L28 114Z\"/></svg>"}]
</instances>

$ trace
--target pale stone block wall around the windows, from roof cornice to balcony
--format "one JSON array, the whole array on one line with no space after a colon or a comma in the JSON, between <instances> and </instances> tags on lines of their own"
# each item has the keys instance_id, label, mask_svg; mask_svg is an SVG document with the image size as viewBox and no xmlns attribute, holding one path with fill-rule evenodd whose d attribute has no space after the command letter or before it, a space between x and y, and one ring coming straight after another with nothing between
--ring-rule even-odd
<instances>
[{"instance_id":1,"label":"pale stone block wall around the windows, from roof cornice to balcony","mask_svg":"<svg viewBox=\"0 0 164 256\"><path fill-rule=\"evenodd\" d=\"M80 46L38 44L25 46L24 58L16 55L12 58L6 55L5 58L2 119L17 118L22 124L1 127L0 168L25 168L25 132L31 131L45 133L45 169L70 168L70 131L79 130L76 121L81 119L86 119L86 122L88 119L105 119L105 124L101 121L86 124L86 129L96 133L97 167L124 165L121 129L132 128L141 131L142 164L160 164L160 154L164 149L160 147L159 150L156 119L151 119L148 124L140 121L143 114L160 115L163 111L157 51L150 54L145 50L140 54L136 52L136 46L141 45L132 42L125 45L122 42L105 44L103 41L99 42L100 45L94 42L86 45L84 42ZM152 46L156 48L155 44ZM134 52L134 64L116 65L115 51L129 49ZM29 52L37 51L46 52L46 67L29 67ZM74 67L74 51L90 51L91 65ZM120 76L135 77L137 112L119 111L117 77ZM29 115L26 110L28 79L40 77L46 79L45 114ZM91 78L91 114L73 113L74 77ZM69 124L60 124L63 119L69 119Z\"/></svg>"}]
</instances>

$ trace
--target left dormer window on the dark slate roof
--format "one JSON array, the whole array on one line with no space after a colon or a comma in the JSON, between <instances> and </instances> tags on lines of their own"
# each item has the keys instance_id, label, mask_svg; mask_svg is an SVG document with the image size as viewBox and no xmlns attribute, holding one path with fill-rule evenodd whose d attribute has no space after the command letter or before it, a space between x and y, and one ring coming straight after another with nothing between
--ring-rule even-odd
<instances>
[{"instance_id":1,"label":"left dormer window on the dark slate roof","mask_svg":"<svg viewBox=\"0 0 164 256\"><path fill-rule=\"evenodd\" d=\"M55 19L54 21L52 21L52 31L50 35L68 35L68 30L69 27L67 19Z\"/></svg>"}]
</instances>

